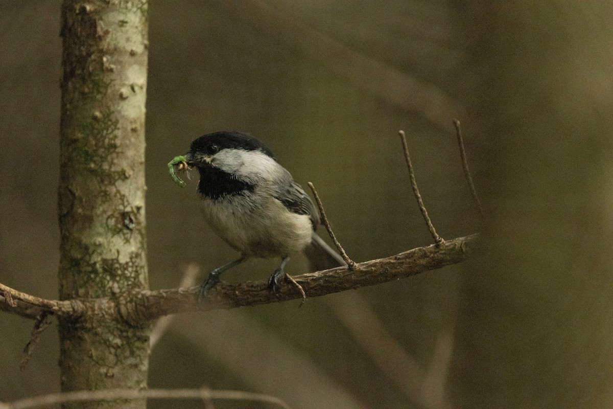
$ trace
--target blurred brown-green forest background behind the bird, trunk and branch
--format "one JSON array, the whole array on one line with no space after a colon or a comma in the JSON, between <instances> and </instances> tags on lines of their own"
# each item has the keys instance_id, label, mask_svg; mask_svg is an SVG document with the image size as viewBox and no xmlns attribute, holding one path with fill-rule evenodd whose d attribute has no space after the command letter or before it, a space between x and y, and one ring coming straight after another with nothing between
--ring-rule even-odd
<instances>
[{"instance_id":1,"label":"blurred brown-green forest background behind the bird, trunk and branch","mask_svg":"<svg viewBox=\"0 0 613 409\"><path fill-rule=\"evenodd\" d=\"M47 298L59 259L60 4L0 0L0 282ZM610 407L611 15L609 2L151 0L151 288L236 256L202 220L196 180L177 188L166 167L221 129L251 132L313 182L356 261L432 240L404 129L440 235L481 231L485 246L470 262L302 308L180 316L151 353L150 386L264 392L305 409ZM225 279L264 280L275 262ZM288 267L307 269L298 257ZM31 326L0 314L1 401L58 390L55 331L18 370Z\"/></svg>"}]
</instances>

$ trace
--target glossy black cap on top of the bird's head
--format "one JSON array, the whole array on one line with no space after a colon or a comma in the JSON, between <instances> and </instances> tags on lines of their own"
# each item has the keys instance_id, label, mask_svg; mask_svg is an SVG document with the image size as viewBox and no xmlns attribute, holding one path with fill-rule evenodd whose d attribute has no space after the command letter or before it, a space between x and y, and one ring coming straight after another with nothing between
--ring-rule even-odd
<instances>
[{"instance_id":1,"label":"glossy black cap on top of the bird's head","mask_svg":"<svg viewBox=\"0 0 613 409\"><path fill-rule=\"evenodd\" d=\"M203 135L194 139L189 148L192 151L202 152L207 155L214 155L218 151L226 148L243 149L247 151L259 150L265 155L274 158L272 151L265 147L264 143L249 134L238 131L219 131Z\"/></svg>"}]
</instances>

